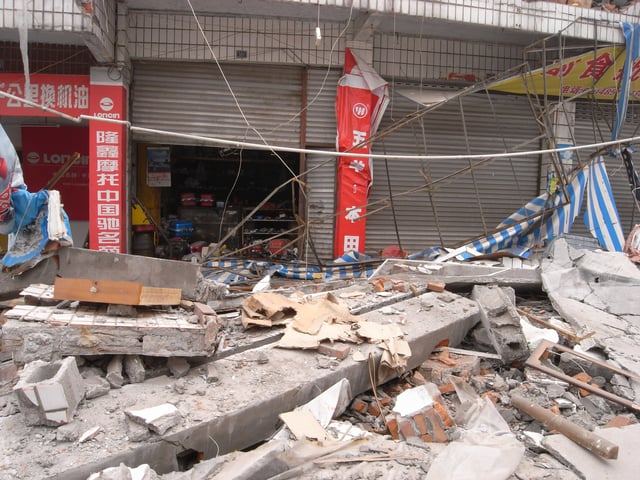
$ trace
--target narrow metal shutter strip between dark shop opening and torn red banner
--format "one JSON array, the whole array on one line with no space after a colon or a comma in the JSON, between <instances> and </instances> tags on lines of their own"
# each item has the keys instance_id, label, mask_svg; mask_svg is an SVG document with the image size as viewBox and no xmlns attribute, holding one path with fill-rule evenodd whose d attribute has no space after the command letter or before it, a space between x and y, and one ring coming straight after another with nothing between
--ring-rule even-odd
<instances>
[{"instance_id":1,"label":"narrow metal shutter strip between dark shop opening and torn red banner","mask_svg":"<svg viewBox=\"0 0 640 480\"><path fill-rule=\"evenodd\" d=\"M339 70L309 69L307 77L307 147L320 146L332 150L336 144L336 86ZM316 253L323 261L333 259L333 232L335 226L335 158L307 155L307 168L313 169L307 177L309 186L307 214L311 239ZM307 258L315 257L307 248Z\"/></svg>"}]
</instances>

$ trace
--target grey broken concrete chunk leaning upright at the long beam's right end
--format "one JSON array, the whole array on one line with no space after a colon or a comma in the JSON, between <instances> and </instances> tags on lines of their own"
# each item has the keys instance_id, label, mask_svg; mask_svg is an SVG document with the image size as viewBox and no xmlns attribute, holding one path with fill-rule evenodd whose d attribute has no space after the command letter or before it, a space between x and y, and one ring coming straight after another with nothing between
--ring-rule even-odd
<instances>
[{"instance_id":1,"label":"grey broken concrete chunk leaning upright at the long beam's right end","mask_svg":"<svg viewBox=\"0 0 640 480\"><path fill-rule=\"evenodd\" d=\"M494 285L476 285L471 291L471 298L480 306L480 318L489 339L506 364L529 356L527 339L512 297L513 290L508 292Z\"/></svg>"}]
</instances>

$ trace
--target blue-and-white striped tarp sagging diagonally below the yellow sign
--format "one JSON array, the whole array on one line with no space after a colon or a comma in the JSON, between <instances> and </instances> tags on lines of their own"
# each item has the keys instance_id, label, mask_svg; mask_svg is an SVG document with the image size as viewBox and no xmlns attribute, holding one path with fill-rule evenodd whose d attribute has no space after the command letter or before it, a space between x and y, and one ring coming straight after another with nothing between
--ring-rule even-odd
<instances>
[{"instance_id":1,"label":"blue-and-white striped tarp sagging diagonally below the yellow sign","mask_svg":"<svg viewBox=\"0 0 640 480\"><path fill-rule=\"evenodd\" d=\"M569 233L582 208L585 191L585 224L600 245L607 250L621 251L624 237L603 158L595 158L589 165L576 172L566 191L568 200L565 199L562 190L554 194L545 192L534 198L503 220L498 225L496 233L466 245L469 252L461 253L456 258L466 260L509 248L533 247L540 245L544 240ZM561 206L563 203L566 204ZM549 211L548 215L544 215L545 210ZM528 218L536 214L542 215ZM474 252L478 252L477 255Z\"/></svg>"}]
</instances>

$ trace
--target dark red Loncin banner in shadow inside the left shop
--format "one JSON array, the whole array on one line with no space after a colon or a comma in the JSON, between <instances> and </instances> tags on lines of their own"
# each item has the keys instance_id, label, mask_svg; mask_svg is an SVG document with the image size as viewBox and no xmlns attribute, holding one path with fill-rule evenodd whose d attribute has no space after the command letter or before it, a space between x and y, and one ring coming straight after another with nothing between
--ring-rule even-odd
<instances>
[{"instance_id":1,"label":"dark red Loncin banner in shadow inside the left shop","mask_svg":"<svg viewBox=\"0 0 640 480\"><path fill-rule=\"evenodd\" d=\"M52 188L60 192L69 220L89 220L89 129L22 127L22 170L25 183L33 192L44 188L75 152L80 158Z\"/></svg>"}]
</instances>

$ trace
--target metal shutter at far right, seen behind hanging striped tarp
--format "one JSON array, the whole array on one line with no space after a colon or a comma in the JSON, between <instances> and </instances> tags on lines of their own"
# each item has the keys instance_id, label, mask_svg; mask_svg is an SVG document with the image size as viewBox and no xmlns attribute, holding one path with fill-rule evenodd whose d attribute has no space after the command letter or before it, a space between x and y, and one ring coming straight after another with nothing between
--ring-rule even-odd
<instances>
[{"instance_id":1,"label":"metal shutter at far right, seen behind hanging striped tarp","mask_svg":"<svg viewBox=\"0 0 640 480\"><path fill-rule=\"evenodd\" d=\"M607 142L611 140L611 125L615 117L615 105L612 103L578 103L576 105L575 137L577 145L590 145L592 143ZM640 134L640 105L631 104L627 112L627 121L622 128L619 138L630 138ZM580 158L588 160L594 151L580 150ZM622 159L605 156L607 174L611 182L611 188L618 207L622 231L625 237L634 224L640 221L640 214L636 211L635 202L631 196L629 179L622 163ZM634 155L636 170L640 169L640 155ZM584 206L583 206L584 208ZM581 215L584 212L581 212ZM584 226L582 217L576 219L571 231L576 235L590 235Z\"/></svg>"}]
</instances>

